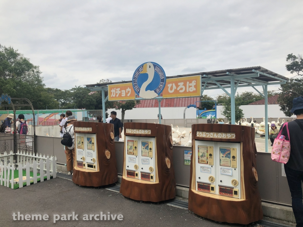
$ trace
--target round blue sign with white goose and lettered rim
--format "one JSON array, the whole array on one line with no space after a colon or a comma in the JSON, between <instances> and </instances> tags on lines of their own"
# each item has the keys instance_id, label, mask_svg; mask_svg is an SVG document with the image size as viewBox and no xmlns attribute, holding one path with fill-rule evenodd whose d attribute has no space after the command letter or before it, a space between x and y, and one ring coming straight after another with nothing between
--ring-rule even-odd
<instances>
[{"instance_id":1,"label":"round blue sign with white goose and lettered rim","mask_svg":"<svg viewBox=\"0 0 303 227\"><path fill-rule=\"evenodd\" d=\"M145 62L136 70L132 78L135 93L144 99L153 99L165 87L166 76L163 68L155 62Z\"/></svg>"}]
</instances>

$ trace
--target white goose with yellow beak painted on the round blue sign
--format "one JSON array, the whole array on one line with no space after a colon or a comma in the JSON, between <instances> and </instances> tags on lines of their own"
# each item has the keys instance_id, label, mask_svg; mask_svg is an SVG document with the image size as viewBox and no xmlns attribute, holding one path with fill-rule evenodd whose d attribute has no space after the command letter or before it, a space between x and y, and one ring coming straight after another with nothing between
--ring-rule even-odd
<instances>
[{"instance_id":1,"label":"white goose with yellow beak painted on the round blue sign","mask_svg":"<svg viewBox=\"0 0 303 227\"><path fill-rule=\"evenodd\" d=\"M148 86L148 84L152 81L152 79L154 78L154 74L155 74L155 67L152 63L148 62L145 63L143 65L143 70L140 72L141 73L147 73L148 74L148 79L147 81L145 81L141 88L140 88L140 93L139 96L141 98L145 98L145 99L152 99L158 96L157 93L155 93L155 91L153 90L146 90L146 87Z\"/></svg>"}]
</instances>

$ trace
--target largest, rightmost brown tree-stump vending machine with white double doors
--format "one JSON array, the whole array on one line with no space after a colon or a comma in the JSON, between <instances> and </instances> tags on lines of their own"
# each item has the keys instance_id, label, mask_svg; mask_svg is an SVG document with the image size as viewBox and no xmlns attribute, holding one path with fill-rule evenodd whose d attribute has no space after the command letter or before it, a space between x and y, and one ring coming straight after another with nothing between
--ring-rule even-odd
<instances>
[{"instance_id":1,"label":"largest, rightmost brown tree-stump vending machine with white double doors","mask_svg":"<svg viewBox=\"0 0 303 227\"><path fill-rule=\"evenodd\" d=\"M192 125L188 209L238 224L261 220L255 129L230 124Z\"/></svg>"}]
</instances>

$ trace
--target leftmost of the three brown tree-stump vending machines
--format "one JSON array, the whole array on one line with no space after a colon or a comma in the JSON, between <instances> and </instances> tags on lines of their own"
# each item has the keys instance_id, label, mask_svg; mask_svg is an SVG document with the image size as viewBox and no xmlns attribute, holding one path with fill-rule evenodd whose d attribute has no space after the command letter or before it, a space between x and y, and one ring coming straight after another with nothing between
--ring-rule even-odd
<instances>
[{"instance_id":1,"label":"leftmost of the three brown tree-stump vending machines","mask_svg":"<svg viewBox=\"0 0 303 227\"><path fill-rule=\"evenodd\" d=\"M114 125L76 121L73 182L81 186L102 186L118 180Z\"/></svg>"}]
</instances>

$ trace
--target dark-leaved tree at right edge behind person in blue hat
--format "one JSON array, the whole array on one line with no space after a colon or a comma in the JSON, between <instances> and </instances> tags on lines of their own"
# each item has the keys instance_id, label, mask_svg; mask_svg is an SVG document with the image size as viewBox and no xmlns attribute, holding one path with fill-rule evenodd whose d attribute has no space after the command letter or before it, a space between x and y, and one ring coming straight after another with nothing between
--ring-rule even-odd
<instances>
[{"instance_id":1,"label":"dark-leaved tree at right edge behind person in blue hat","mask_svg":"<svg viewBox=\"0 0 303 227\"><path fill-rule=\"evenodd\" d=\"M288 54L286 61L286 69L291 74L295 74L294 77L303 76L303 58L302 55L298 54L295 56L293 54ZM290 112L292 108L292 100L298 96L303 95L303 78L291 78L285 84L281 84L282 92L278 97L278 102L280 106L280 110L287 117L291 117L292 113Z\"/></svg>"}]
</instances>

